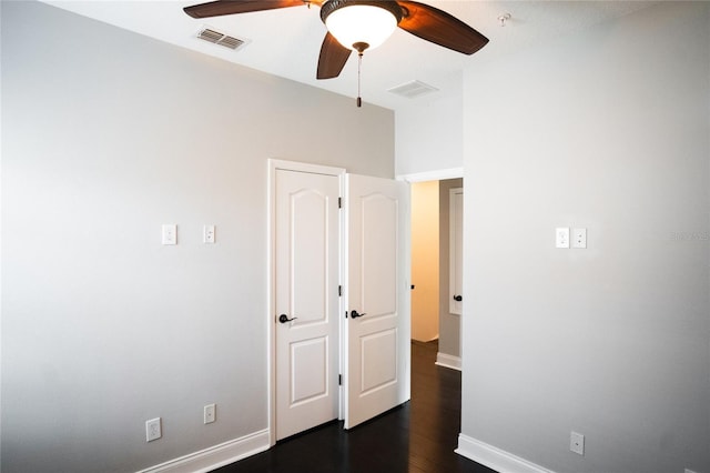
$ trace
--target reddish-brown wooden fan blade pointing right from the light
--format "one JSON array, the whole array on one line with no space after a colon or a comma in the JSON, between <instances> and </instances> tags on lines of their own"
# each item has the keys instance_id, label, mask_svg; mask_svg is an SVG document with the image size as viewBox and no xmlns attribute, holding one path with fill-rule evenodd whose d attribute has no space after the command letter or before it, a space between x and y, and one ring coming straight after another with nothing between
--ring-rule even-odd
<instances>
[{"instance_id":1,"label":"reddish-brown wooden fan blade pointing right from the light","mask_svg":"<svg viewBox=\"0 0 710 473\"><path fill-rule=\"evenodd\" d=\"M404 10L398 27L444 48L473 54L488 43L488 38L438 8L416 1L397 0Z\"/></svg>"}]
</instances>

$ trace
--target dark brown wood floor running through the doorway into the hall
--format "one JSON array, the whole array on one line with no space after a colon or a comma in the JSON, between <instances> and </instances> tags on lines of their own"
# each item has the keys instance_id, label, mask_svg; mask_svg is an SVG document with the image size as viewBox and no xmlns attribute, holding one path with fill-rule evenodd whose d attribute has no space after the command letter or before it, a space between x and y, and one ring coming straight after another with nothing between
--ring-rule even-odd
<instances>
[{"instance_id":1,"label":"dark brown wood floor running through the doorway into the hall","mask_svg":"<svg viewBox=\"0 0 710 473\"><path fill-rule=\"evenodd\" d=\"M454 453L460 373L436 366L437 342L412 343L412 401L349 431L342 422L278 442L219 473L495 473Z\"/></svg>"}]
</instances>

